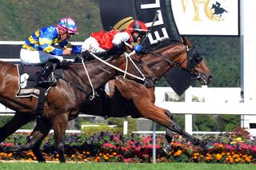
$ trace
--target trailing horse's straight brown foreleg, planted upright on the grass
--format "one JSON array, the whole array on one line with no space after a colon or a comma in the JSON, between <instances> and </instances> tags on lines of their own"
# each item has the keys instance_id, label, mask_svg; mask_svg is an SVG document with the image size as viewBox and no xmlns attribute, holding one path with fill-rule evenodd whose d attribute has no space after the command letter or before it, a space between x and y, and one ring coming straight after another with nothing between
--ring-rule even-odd
<instances>
[{"instance_id":1,"label":"trailing horse's straight brown foreleg, planted upright on the grass","mask_svg":"<svg viewBox=\"0 0 256 170\"><path fill-rule=\"evenodd\" d=\"M67 127L68 116L66 114L56 115L54 119L52 119L52 124L54 126L54 140L55 146L58 151L59 161L61 163L65 162L64 157L64 136Z\"/></svg>"}]
</instances>

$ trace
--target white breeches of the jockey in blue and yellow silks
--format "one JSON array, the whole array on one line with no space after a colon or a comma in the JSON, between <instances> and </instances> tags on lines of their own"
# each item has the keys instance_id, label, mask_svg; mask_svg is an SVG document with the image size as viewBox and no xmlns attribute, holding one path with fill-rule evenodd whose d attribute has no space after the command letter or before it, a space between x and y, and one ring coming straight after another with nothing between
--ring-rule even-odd
<instances>
[{"instance_id":1,"label":"white breeches of the jockey in blue and yellow silks","mask_svg":"<svg viewBox=\"0 0 256 170\"><path fill-rule=\"evenodd\" d=\"M21 49L20 58L25 65L41 65L46 63L49 59L63 61L62 56L51 55L43 51L31 51L29 49Z\"/></svg>"}]
</instances>

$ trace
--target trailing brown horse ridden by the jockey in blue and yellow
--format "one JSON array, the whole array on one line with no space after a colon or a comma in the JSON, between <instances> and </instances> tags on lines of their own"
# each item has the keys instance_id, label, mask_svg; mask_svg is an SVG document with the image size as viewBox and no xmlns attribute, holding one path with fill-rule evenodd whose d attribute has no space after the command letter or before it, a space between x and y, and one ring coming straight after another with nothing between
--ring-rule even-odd
<instances>
[{"instance_id":1,"label":"trailing brown horse ridden by the jockey in blue and yellow","mask_svg":"<svg viewBox=\"0 0 256 170\"><path fill-rule=\"evenodd\" d=\"M106 61L120 69L126 69L125 57L112 56ZM90 61L85 65L90 73L90 81L94 85L94 89L98 89L99 86L106 84L112 77L118 75L116 69L98 60ZM82 105L90 101L89 94L92 89L82 63L62 63L60 67L63 69L63 78L56 82L56 85L50 89L46 96L44 113L41 119L46 120L46 124L40 132L41 134L45 132L47 134L53 126L60 160L64 162L64 134L67 122L78 117ZM128 72L139 76L138 71L132 68L132 65L128 68ZM0 128L0 141L2 141L15 132L16 129L35 118L38 99L35 97L15 97L18 92L18 69L16 65L0 61L0 82L0 102L16 111L12 120ZM38 134L38 137L41 137L40 134Z\"/></svg>"}]
</instances>

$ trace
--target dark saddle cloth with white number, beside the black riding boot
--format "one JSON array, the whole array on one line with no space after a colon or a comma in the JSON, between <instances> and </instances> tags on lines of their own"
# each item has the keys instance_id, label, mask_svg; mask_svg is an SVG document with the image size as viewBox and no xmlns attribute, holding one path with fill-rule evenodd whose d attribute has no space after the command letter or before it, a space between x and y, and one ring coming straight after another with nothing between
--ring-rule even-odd
<instances>
[{"instance_id":1,"label":"dark saddle cloth with white number, beside the black riding boot","mask_svg":"<svg viewBox=\"0 0 256 170\"><path fill-rule=\"evenodd\" d=\"M17 65L18 70L18 92L16 97L37 97L40 89L37 86L39 74L44 65ZM46 94L50 87L46 90ZM46 95L45 94L45 95Z\"/></svg>"}]
</instances>

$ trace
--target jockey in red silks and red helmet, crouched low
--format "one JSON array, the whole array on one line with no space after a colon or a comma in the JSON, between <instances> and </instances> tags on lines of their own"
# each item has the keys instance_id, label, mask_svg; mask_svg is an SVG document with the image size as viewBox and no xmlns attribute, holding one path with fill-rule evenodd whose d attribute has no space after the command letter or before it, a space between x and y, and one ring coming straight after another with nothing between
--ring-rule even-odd
<instances>
[{"instance_id":1,"label":"jockey in red silks and red helmet, crouched low","mask_svg":"<svg viewBox=\"0 0 256 170\"><path fill-rule=\"evenodd\" d=\"M90 34L82 44L82 52L89 51L90 53L103 53L109 51L113 47L119 47L122 42L139 43L143 36L146 35L148 29L145 23L135 20L131 22L126 30L104 30ZM137 53L142 53L142 45L129 45Z\"/></svg>"}]
</instances>

